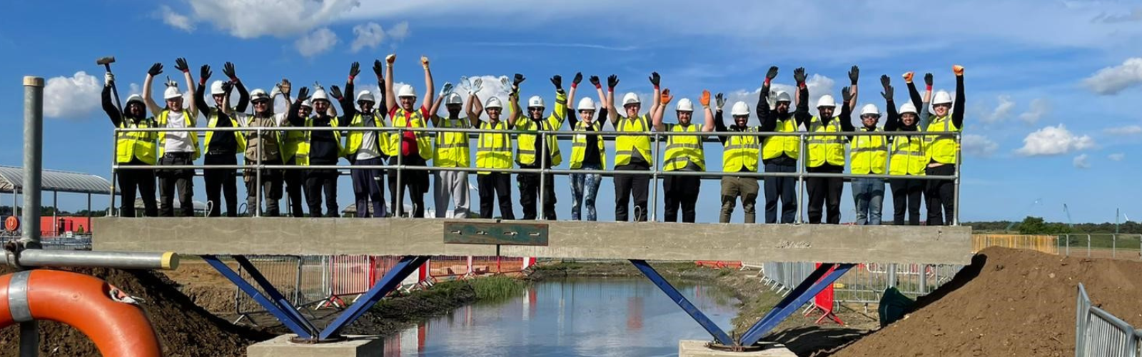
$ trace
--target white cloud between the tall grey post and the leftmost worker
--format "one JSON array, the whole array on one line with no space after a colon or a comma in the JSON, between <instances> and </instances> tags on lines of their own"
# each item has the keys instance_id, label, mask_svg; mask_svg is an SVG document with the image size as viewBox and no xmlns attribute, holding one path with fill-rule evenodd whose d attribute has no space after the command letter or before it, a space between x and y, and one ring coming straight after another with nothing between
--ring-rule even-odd
<instances>
[{"instance_id":1,"label":"white cloud between the tall grey post and the leftmost worker","mask_svg":"<svg viewBox=\"0 0 1142 357\"><path fill-rule=\"evenodd\" d=\"M43 87L43 116L48 118L79 118L99 108L102 80L79 71L72 77L49 78Z\"/></svg>"}]
</instances>

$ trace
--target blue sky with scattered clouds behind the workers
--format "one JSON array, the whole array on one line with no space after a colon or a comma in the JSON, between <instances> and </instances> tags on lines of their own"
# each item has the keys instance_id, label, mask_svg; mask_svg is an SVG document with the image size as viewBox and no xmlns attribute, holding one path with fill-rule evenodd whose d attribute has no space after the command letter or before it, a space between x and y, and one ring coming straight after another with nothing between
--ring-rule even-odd
<instances>
[{"instance_id":1,"label":"blue sky with scattered clouds behind the workers","mask_svg":"<svg viewBox=\"0 0 1142 357\"><path fill-rule=\"evenodd\" d=\"M0 82L8 84L0 86L0 122L7 128L0 130L0 165L22 165L23 88L16 84L39 76L47 79L45 168L111 177L112 125L99 106L104 70L95 64L102 56L116 57L112 70L124 98L140 90L154 62L166 68L160 80L171 76L182 82L176 57L186 57L193 69L211 65L215 79L223 63L234 62L251 89L270 89L281 78L295 88L314 81L344 85L349 63L361 62L367 80L359 89L364 89L375 86L370 63L396 54L396 81L418 94L424 74L417 64L425 55L432 58L437 90L461 77L523 73L529 78L523 95L550 103L554 88L547 78L562 74L569 82L582 72L617 74L616 92L645 95L652 90L645 78L657 71L676 100L697 101L709 89L726 93L727 106L741 100L750 108L771 65L781 68L775 82L786 86L793 85L793 69L804 66L814 101L838 96L849 68L859 65L859 103L882 110L880 74L893 79L896 103L903 103L901 73L931 72L936 89L952 90L951 65L960 64L966 68L962 220L1037 215L1107 222L1115 221L1116 208L1142 216L1142 190L1134 185L1142 174L1136 151L1142 120L1136 104L1129 104L1142 103L1142 5L1135 1L110 0L61 6L16 0L6 13L15 16L0 22L0 51L14 58L0 66ZM162 86L154 87L161 95ZM498 89L484 88L502 95ZM594 90L584 95L594 97ZM668 110L666 121L674 120ZM707 165L719 162L721 148L708 144ZM561 177L556 185L558 215L568 219L568 181ZM202 187L195 184L198 200L206 199ZM716 222L718 182L703 182L701 190L698 221ZM613 219L609 180L600 192L600 220ZM847 222L854 213L847 185L843 197L842 221ZM352 185L343 177L339 204L352 203ZM83 196L61 196L64 209L85 205ZM95 207L106 207L105 198ZM885 197L886 217L891 209L891 196ZM738 205L734 221L740 220Z\"/></svg>"}]
</instances>

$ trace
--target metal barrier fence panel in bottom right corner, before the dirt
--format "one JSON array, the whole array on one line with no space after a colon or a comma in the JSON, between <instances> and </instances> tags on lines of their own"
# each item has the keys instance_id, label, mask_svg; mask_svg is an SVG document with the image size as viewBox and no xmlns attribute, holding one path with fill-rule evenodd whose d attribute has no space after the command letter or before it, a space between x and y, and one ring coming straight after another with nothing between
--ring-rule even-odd
<instances>
[{"instance_id":1,"label":"metal barrier fence panel in bottom right corner, before the dirt","mask_svg":"<svg viewBox=\"0 0 1142 357\"><path fill-rule=\"evenodd\" d=\"M1142 330L1095 307L1081 283L1076 299L1075 356L1142 356Z\"/></svg>"}]
</instances>

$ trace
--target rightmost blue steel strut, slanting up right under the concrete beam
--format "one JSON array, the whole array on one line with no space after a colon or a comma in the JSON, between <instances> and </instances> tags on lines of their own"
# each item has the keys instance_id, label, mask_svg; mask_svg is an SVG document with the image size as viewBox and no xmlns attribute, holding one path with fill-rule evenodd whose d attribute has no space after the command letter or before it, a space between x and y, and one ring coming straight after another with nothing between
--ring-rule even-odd
<instances>
[{"instance_id":1,"label":"rightmost blue steel strut, slanting up right under the concrete beam","mask_svg":"<svg viewBox=\"0 0 1142 357\"><path fill-rule=\"evenodd\" d=\"M753 327L746 331L741 335L741 346L753 346L762 339L763 335L769 333L778 324L781 324L789 315L797 311L803 304L809 302L810 299L817 296L827 286L833 285L841 276L845 275L849 269L852 269L855 264L837 264L837 263L823 263L813 270L805 280L802 280L793 292L789 293L785 299L781 300L773 310L770 310L761 320L754 324ZM836 267L835 270L829 271L829 269ZM825 278L821 278L821 277ZM820 280L819 280L820 279Z\"/></svg>"}]
</instances>

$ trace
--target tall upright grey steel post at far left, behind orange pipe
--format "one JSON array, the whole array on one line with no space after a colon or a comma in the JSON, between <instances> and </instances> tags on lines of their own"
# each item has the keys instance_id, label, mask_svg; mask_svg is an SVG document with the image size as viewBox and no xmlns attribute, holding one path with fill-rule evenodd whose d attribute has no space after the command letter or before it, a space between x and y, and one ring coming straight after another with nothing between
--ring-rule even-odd
<instances>
[{"instance_id":1,"label":"tall upright grey steel post at far left, behind orange pipe","mask_svg":"<svg viewBox=\"0 0 1142 357\"><path fill-rule=\"evenodd\" d=\"M24 227L19 244L27 248L40 247L40 189L43 167L43 78L24 77ZM112 158L114 159L114 158ZM114 190L112 190L114 193ZM112 195L114 200L114 195ZM40 354L40 332L35 320L19 323L19 356Z\"/></svg>"}]
</instances>

